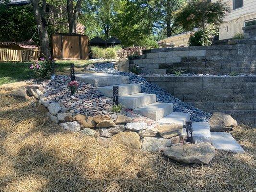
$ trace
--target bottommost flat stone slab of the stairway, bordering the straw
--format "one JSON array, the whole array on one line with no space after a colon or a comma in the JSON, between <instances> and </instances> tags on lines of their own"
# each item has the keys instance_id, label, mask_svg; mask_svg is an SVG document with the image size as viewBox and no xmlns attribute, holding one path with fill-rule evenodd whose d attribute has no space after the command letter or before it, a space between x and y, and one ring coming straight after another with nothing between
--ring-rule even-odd
<instances>
[{"instance_id":1,"label":"bottommost flat stone slab of the stairway, bordering the straw","mask_svg":"<svg viewBox=\"0 0 256 192\"><path fill-rule=\"evenodd\" d=\"M230 133L211 132L211 142L215 149L244 153L244 149L237 143Z\"/></svg>"}]
</instances>

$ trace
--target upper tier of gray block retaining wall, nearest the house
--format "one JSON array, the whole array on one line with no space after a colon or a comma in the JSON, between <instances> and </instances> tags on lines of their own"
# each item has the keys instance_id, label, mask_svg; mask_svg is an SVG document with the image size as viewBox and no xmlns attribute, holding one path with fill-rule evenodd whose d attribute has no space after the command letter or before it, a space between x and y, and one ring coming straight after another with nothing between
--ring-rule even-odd
<instances>
[{"instance_id":1,"label":"upper tier of gray block retaining wall, nearest the house","mask_svg":"<svg viewBox=\"0 0 256 192\"><path fill-rule=\"evenodd\" d=\"M144 50L130 67L143 67L143 73L166 74L173 68L194 74L256 74L256 41L246 44L158 48Z\"/></svg>"}]
</instances>

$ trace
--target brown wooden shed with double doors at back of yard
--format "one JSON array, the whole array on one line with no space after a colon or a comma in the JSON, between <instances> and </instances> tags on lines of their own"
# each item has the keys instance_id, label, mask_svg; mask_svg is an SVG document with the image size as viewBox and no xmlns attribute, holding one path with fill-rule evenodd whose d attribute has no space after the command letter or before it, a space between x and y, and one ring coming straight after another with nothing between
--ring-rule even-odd
<instances>
[{"instance_id":1,"label":"brown wooden shed with double doors at back of yard","mask_svg":"<svg viewBox=\"0 0 256 192\"><path fill-rule=\"evenodd\" d=\"M89 59L89 37L76 33L52 34L54 59Z\"/></svg>"}]
</instances>

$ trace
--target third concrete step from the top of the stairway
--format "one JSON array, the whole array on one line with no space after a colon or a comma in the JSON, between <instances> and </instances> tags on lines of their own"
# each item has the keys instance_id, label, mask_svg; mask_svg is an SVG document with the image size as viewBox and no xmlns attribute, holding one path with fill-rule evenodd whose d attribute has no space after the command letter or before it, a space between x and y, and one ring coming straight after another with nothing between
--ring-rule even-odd
<instances>
[{"instance_id":1,"label":"third concrete step from the top of the stairway","mask_svg":"<svg viewBox=\"0 0 256 192\"><path fill-rule=\"evenodd\" d=\"M139 108L151 103L155 103L156 100L157 98L155 94L148 93L136 93L128 96L120 96L118 98L119 103L129 109Z\"/></svg>"}]
</instances>

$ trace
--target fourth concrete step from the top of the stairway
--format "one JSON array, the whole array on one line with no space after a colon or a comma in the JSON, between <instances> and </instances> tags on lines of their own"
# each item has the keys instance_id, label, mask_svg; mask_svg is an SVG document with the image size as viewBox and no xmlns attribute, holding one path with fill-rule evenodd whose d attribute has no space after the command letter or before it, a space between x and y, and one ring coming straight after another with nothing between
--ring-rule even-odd
<instances>
[{"instance_id":1,"label":"fourth concrete step from the top of the stairway","mask_svg":"<svg viewBox=\"0 0 256 192\"><path fill-rule=\"evenodd\" d=\"M173 112L173 104L156 102L140 108L135 108L134 112L156 121Z\"/></svg>"}]
</instances>

